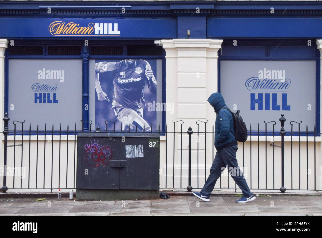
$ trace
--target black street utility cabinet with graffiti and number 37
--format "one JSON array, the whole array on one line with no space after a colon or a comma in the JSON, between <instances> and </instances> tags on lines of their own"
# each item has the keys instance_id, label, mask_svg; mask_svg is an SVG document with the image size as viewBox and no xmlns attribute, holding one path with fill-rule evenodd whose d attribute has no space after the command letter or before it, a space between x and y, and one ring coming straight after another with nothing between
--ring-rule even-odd
<instances>
[{"instance_id":1,"label":"black street utility cabinet with graffiti and number 37","mask_svg":"<svg viewBox=\"0 0 322 238\"><path fill-rule=\"evenodd\" d=\"M76 199L157 199L159 145L153 133L78 133Z\"/></svg>"}]
</instances>

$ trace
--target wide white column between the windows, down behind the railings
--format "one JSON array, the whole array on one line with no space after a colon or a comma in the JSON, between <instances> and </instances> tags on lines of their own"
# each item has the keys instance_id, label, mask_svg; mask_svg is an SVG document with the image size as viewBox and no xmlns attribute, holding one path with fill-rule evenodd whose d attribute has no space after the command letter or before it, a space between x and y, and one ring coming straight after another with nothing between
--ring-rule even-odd
<instances>
[{"instance_id":1,"label":"wide white column between the windows, down behind the railings","mask_svg":"<svg viewBox=\"0 0 322 238\"><path fill-rule=\"evenodd\" d=\"M174 114L166 112L166 123L168 131L173 130L173 121L182 120L183 124L183 147L182 164L183 178L182 184L185 187L187 181L187 158L188 158L188 135L186 131L191 126L192 135L192 169L197 169L197 124L199 131L204 132L205 124L208 120L207 132L212 131L212 124L215 121L214 110L207 102L210 94L217 92L218 84L218 50L221 48L223 40L213 39L174 39L162 40L163 48L166 50L166 102L173 103ZM180 123L177 123L176 131L180 131ZM180 135L175 138L175 184L178 187L180 181ZM212 135L206 137L206 160L207 167L212 162ZM200 184L204 181L204 159L205 159L205 136L199 134L199 174ZM169 160L173 161L173 137L168 136L167 159L168 159L168 187L172 186L173 167L169 170ZM164 148L165 149L165 148ZM173 163L173 162L172 162ZM209 173L209 169L207 169ZM192 174L197 174L193 171ZM165 176L165 174L163 174ZM171 176L170 176L171 175ZM170 178L171 177L171 178ZM170 179L169 179L170 178ZM171 182L170 182L171 180ZM196 181L196 179L192 179ZM164 182L164 180L163 180ZM192 184L194 187L196 184ZM161 185L164 187L164 185Z\"/></svg>"}]
</instances>

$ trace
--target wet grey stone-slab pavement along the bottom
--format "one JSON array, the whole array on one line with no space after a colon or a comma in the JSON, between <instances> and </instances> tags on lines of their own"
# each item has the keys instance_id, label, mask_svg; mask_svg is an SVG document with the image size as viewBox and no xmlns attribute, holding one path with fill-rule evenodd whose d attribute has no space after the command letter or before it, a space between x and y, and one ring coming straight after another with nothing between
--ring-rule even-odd
<instances>
[{"instance_id":1,"label":"wet grey stone-slab pavement along the bottom","mask_svg":"<svg viewBox=\"0 0 322 238\"><path fill-rule=\"evenodd\" d=\"M322 216L322 195L260 195L254 202L236 203L237 195L212 196L209 203L191 195L163 200L77 201L62 198L1 198L0 216L87 215L234 215Z\"/></svg>"}]
</instances>

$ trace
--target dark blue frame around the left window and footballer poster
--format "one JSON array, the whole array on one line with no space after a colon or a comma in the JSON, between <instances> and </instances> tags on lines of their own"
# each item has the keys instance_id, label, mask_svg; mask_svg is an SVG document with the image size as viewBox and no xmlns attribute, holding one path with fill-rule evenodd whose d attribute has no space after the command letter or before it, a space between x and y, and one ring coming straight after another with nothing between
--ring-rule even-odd
<instances>
[{"instance_id":1,"label":"dark blue frame around the left window and footballer poster","mask_svg":"<svg viewBox=\"0 0 322 238\"><path fill-rule=\"evenodd\" d=\"M15 46L42 46L43 54L42 55L10 55L10 40L8 44L8 48L5 50L5 112L8 113L8 117L10 118L9 111L9 59L83 59L82 54L88 53L88 60L90 59L100 59L100 58L128 58L131 57L133 59L162 59L162 103L166 102L166 61L165 61L165 50L162 49L162 55L131 55L127 56L127 45L154 45L153 40L140 40L140 42L133 42L131 40L120 40L120 41L101 41L101 40L89 40L89 46L84 45L84 40L14 40ZM81 54L80 55L48 55L47 47L48 46L81 46ZM90 55L90 46L123 46L123 55ZM162 47L162 46L160 46ZM89 131L89 110L85 110L84 105L89 103L89 61L83 60L83 76L82 76L82 118L84 122L84 131ZM166 129L166 113L162 112L162 124L160 125L160 131L164 132ZM22 119L23 120L23 119ZM157 128L157 127L154 127ZM26 128L25 128L26 129ZM92 128L94 129L94 128ZM77 130L79 132L80 130ZM55 130L55 133L58 131ZM43 134L43 133L40 133ZM65 133L63 133L65 134Z\"/></svg>"}]
</instances>

